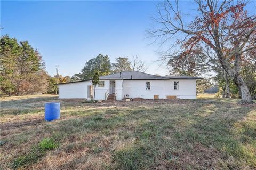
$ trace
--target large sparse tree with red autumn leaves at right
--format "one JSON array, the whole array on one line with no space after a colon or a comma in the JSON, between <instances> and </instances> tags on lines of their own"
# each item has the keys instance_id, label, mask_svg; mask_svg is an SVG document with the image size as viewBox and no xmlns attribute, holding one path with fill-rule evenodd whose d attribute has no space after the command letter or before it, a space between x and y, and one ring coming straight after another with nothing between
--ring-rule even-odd
<instances>
[{"instance_id":1,"label":"large sparse tree with red autumn leaves at right","mask_svg":"<svg viewBox=\"0 0 256 170\"><path fill-rule=\"evenodd\" d=\"M210 47L225 73L241 93L241 103L253 103L249 88L241 76L241 59L245 52L256 48L256 16L249 15L244 1L195 0L197 15L188 25L183 20L178 1L158 6L156 25L149 30L151 38L167 43L178 40L164 52L165 56L180 47L183 51L200 46Z\"/></svg>"}]
</instances>

